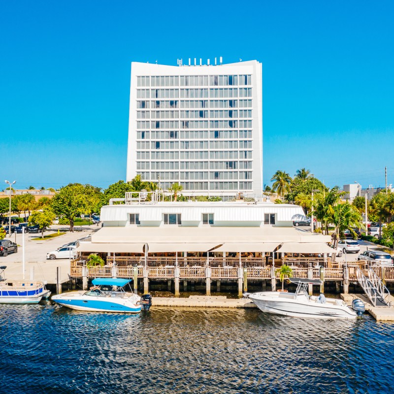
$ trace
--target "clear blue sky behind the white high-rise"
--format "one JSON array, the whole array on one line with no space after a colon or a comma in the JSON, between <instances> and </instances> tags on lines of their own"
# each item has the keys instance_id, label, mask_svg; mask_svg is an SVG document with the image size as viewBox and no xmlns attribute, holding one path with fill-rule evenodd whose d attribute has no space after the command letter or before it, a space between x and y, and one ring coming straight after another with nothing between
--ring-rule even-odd
<instances>
[{"instance_id":1,"label":"clear blue sky behind the white high-rise","mask_svg":"<svg viewBox=\"0 0 394 394\"><path fill-rule=\"evenodd\" d=\"M394 183L393 20L393 1L2 0L0 180L125 179L131 61L223 56L263 63L264 184Z\"/></svg>"}]
</instances>

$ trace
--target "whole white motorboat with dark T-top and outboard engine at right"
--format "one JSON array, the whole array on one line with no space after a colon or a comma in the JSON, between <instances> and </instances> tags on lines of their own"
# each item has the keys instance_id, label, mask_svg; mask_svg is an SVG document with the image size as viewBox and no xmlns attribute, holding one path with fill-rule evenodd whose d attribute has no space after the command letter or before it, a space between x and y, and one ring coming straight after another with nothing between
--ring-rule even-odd
<instances>
[{"instance_id":1,"label":"whole white motorboat with dark T-top and outboard engine at right","mask_svg":"<svg viewBox=\"0 0 394 394\"><path fill-rule=\"evenodd\" d=\"M247 296L263 312L277 315L313 317L324 319L356 319L365 311L361 300L353 301L352 308L348 307L341 299L309 296L306 289L309 284L320 285L318 279L290 278L297 284L295 293L287 292L261 292L247 294Z\"/></svg>"}]
</instances>

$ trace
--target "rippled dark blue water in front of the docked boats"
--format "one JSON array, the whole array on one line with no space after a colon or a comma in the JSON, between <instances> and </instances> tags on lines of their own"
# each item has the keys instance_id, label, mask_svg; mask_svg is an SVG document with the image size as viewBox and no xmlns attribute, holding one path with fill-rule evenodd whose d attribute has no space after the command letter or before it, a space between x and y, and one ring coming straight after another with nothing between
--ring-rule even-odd
<instances>
[{"instance_id":1,"label":"rippled dark blue water in front of the docked boats","mask_svg":"<svg viewBox=\"0 0 394 394\"><path fill-rule=\"evenodd\" d=\"M394 324L0 305L0 393L393 393Z\"/></svg>"}]
</instances>

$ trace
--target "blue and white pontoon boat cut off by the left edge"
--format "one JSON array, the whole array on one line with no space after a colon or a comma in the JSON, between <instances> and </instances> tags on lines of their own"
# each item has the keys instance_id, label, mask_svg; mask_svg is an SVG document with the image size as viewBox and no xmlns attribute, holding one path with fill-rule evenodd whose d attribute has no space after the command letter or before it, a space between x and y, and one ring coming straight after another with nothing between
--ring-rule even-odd
<instances>
[{"instance_id":1,"label":"blue and white pontoon boat cut off by the left edge","mask_svg":"<svg viewBox=\"0 0 394 394\"><path fill-rule=\"evenodd\" d=\"M6 265L0 266L0 303L36 304L41 298L50 296L46 282L4 279Z\"/></svg>"}]
</instances>

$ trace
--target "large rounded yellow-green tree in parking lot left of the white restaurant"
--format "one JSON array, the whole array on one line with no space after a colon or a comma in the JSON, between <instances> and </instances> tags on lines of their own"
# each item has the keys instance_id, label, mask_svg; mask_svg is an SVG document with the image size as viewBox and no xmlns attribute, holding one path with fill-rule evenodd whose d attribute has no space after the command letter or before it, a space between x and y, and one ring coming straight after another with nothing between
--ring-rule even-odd
<instances>
[{"instance_id":1,"label":"large rounded yellow-green tree in parking lot left of the white restaurant","mask_svg":"<svg viewBox=\"0 0 394 394\"><path fill-rule=\"evenodd\" d=\"M88 210L89 203L85 188L80 183L70 183L60 189L52 198L52 208L59 216L64 216L70 223L70 231L74 231L76 216Z\"/></svg>"}]
</instances>

